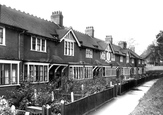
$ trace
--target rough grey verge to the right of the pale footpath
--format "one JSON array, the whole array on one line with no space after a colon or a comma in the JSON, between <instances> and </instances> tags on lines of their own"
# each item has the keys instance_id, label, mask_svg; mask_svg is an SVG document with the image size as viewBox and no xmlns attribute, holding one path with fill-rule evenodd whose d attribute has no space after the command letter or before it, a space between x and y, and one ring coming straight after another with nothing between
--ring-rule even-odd
<instances>
[{"instance_id":1,"label":"rough grey verge to the right of the pale footpath","mask_svg":"<svg viewBox=\"0 0 163 115\"><path fill-rule=\"evenodd\" d=\"M130 115L163 115L163 78L148 90Z\"/></svg>"}]
</instances>

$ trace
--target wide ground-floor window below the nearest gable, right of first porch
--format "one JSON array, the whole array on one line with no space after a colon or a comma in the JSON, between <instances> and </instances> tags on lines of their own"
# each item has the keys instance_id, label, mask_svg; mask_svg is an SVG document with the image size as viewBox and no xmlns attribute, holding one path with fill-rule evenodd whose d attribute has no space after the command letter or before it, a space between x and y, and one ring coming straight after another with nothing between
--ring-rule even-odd
<instances>
[{"instance_id":1,"label":"wide ground-floor window below the nearest gable, right of first porch","mask_svg":"<svg viewBox=\"0 0 163 115\"><path fill-rule=\"evenodd\" d=\"M92 69L92 66L71 65L69 67L69 77L74 80L92 79Z\"/></svg>"}]
</instances>

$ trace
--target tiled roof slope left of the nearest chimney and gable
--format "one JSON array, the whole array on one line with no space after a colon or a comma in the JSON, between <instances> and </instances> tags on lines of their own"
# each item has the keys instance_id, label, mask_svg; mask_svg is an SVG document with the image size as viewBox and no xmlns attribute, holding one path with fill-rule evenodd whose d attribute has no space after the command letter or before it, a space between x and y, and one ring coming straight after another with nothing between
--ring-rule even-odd
<instances>
[{"instance_id":1,"label":"tiled roof slope left of the nearest chimney and gable","mask_svg":"<svg viewBox=\"0 0 163 115\"><path fill-rule=\"evenodd\" d=\"M25 29L28 33L54 39L52 35L55 35L56 29L59 28L55 23L4 5L0 5L0 7L0 23Z\"/></svg>"}]
</instances>

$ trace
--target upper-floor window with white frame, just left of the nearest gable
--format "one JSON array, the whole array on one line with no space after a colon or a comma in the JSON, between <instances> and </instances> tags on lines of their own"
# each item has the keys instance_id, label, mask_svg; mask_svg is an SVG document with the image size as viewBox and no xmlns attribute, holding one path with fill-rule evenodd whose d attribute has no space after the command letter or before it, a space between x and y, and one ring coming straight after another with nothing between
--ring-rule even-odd
<instances>
[{"instance_id":1,"label":"upper-floor window with white frame, just left of the nearest gable","mask_svg":"<svg viewBox=\"0 0 163 115\"><path fill-rule=\"evenodd\" d=\"M31 37L31 50L46 52L46 40L37 37Z\"/></svg>"}]
</instances>

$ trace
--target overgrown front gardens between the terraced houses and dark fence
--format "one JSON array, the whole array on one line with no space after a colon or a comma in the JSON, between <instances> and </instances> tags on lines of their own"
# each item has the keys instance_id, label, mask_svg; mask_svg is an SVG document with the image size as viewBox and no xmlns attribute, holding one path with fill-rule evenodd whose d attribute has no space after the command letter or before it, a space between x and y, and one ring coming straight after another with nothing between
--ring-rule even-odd
<instances>
[{"instance_id":1,"label":"overgrown front gardens between the terraced houses and dark fence","mask_svg":"<svg viewBox=\"0 0 163 115\"><path fill-rule=\"evenodd\" d=\"M0 115L13 115L14 110L26 110L29 106L42 107L44 105L49 105L52 114L57 115L61 113L61 100L68 104L110 88L110 82L106 83L106 80L101 78L93 78L93 80L80 83L68 80L66 84L63 84L65 87L60 89L56 88L57 84L57 82L49 82L43 87L35 87L31 82L20 83L15 90L8 91L6 96L0 97ZM75 84L80 84L80 86L77 88ZM73 100L71 92L74 94Z\"/></svg>"}]
</instances>

